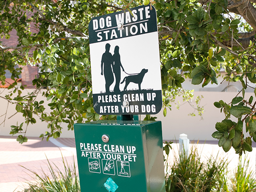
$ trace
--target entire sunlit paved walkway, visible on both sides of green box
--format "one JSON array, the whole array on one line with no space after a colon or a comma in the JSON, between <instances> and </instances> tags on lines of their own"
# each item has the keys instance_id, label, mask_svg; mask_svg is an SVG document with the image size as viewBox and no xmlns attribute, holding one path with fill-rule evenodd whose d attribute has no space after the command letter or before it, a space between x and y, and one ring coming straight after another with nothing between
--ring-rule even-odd
<instances>
[{"instance_id":1,"label":"entire sunlit paved walkway, visible on both sides of green box","mask_svg":"<svg viewBox=\"0 0 256 192\"><path fill-rule=\"evenodd\" d=\"M237 166L238 155L234 154L233 150L225 153L218 147L217 142L199 142L197 145L198 152L202 152L203 158L208 158L210 155L216 156L219 152L219 157L227 156L230 160L230 170L234 170ZM192 145L190 145L192 146ZM169 161L178 154L178 144L172 144L173 150L170 151ZM253 144L253 151L248 153L250 165L255 173L256 165L256 144ZM74 139L58 138L57 140L50 139L39 140L39 138L29 138L28 142L19 144L16 138L0 136L0 192L21 192L27 188L28 181L33 181L28 171L22 166L40 173L44 170L47 173L48 163L53 162L62 170L62 155L71 163L73 157L76 162L76 151Z\"/></svg>"}]
</instances>

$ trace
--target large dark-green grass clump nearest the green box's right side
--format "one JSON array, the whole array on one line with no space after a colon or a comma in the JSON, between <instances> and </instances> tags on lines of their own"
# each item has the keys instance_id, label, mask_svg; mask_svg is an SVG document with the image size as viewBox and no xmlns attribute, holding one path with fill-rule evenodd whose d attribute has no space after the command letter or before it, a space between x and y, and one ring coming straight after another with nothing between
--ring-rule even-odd
<instances>
[{"instance_id":1,"label":"large dark-green grass clump nearest the green box's right side","mask_svg":"<svg viewBox=\"0 0 256 192\"><path fill-rule=\"evenodd\" d=\"M218 160L218 157L202 161L197 148L192 148L189 156L176 156L174 162L166 166L169 167L166 192L220 192L225 185L223 178L227 166L228 161Z\"/></svg>"}]
</instances>

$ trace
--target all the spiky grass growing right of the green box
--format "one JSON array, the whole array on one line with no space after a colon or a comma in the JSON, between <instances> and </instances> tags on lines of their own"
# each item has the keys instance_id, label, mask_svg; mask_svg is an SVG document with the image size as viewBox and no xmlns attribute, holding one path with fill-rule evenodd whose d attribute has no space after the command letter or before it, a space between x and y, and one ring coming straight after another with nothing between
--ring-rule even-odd
<instances>
[{"instance_id":1,"label":"all the spiky grass growing right of the green box","mask_svg":"<svg viewBox=\"0 0 256 192\"><path fill-rule=\"evenodd\" d=\"M166 192L256 192L246 157L240 158L235 170L228 170L228 158L217 155L203 160L201 155L192 147L189 156L176 155L173 162L167 159Z\"/></svg>"}]
</instances>

